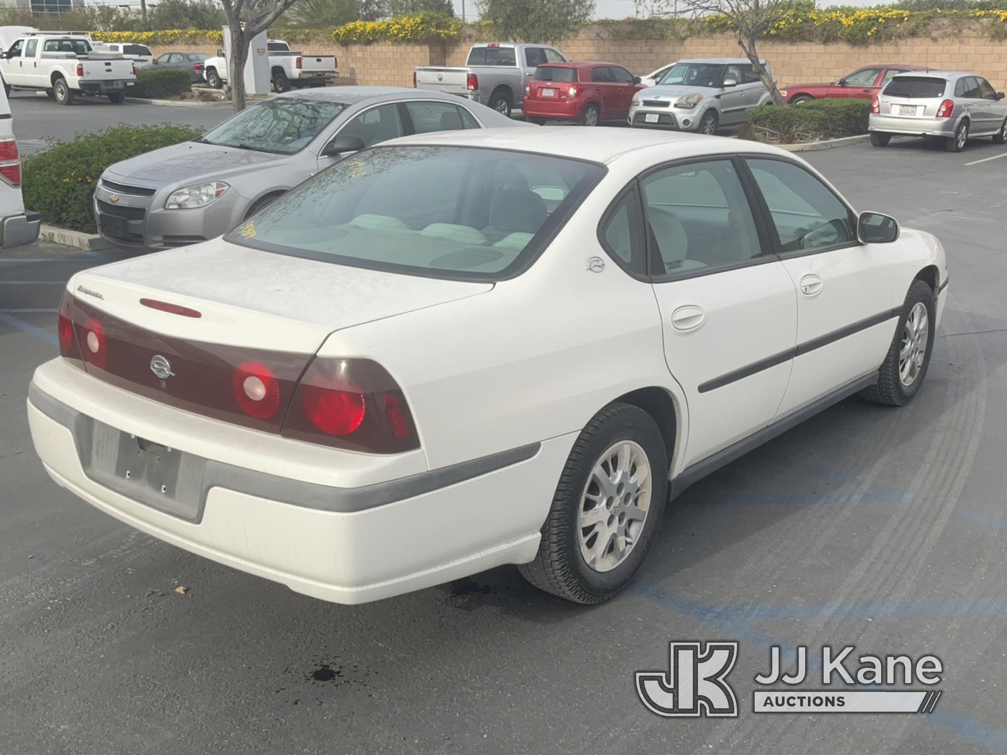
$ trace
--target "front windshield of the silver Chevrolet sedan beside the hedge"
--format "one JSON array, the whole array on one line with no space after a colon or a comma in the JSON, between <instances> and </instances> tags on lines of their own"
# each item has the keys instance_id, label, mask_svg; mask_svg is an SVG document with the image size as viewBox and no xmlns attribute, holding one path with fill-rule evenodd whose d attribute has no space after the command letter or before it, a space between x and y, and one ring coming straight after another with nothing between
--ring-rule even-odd
<instances>
[{"instance_id":1,"label":"front windshield of the silver Chevrolet sedan beside the hedge","mask_svg":"<svg viewBox=\"0 0 1007 755\"><path fill-rule=\"evenodd\" d=\"M345 103L307 98L266 100L210 129L196 141L292 155L310 144L345 108Z\"/></svg>"}]
</instances>

